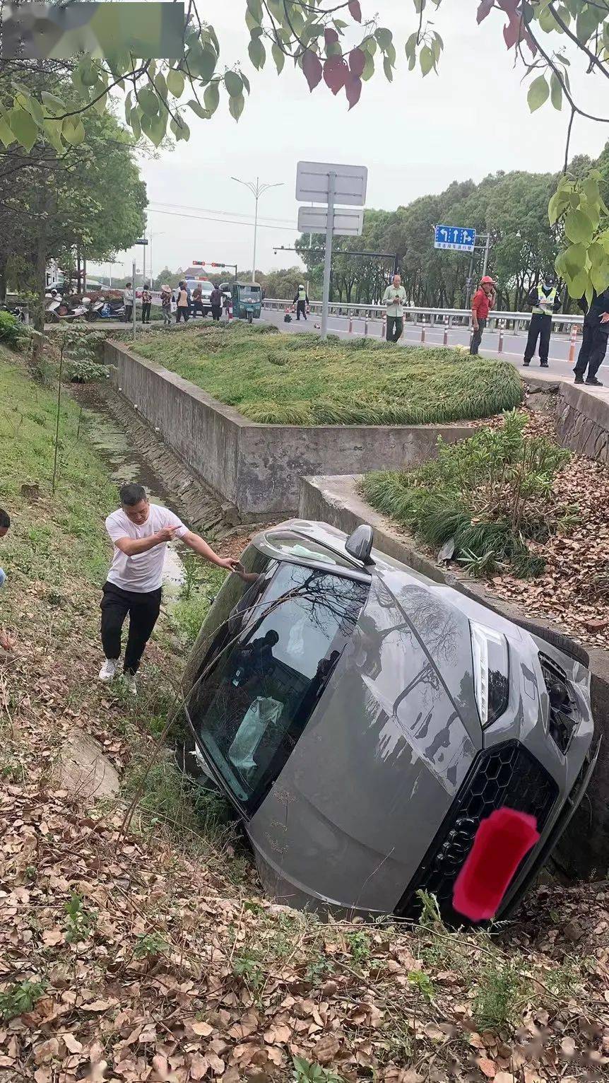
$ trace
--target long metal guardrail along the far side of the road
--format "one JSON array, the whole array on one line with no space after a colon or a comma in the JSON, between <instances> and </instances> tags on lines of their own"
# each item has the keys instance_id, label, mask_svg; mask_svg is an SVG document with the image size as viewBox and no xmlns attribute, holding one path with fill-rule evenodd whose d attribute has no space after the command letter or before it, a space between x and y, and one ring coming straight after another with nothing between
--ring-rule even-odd
<instances>
[{"instance_id":1,"label":"long metal guardrail along the far side of the road","mask_svg":"<svg viewBox=\"0 0 609 1083\"><path fill-rule=\"evenodd\" d=\"M287 298L273 298L267 297L263 301L264 309L278 310L292 306L292 301ZM312 312L321 312L321 301L310 302ZM332 316L344 316L352 319L382 319L386 315L386 309L383 304L343 304L343 303L331 303L329 306L330 315ZM489 312L487 328L491 329L495 327L499 330L526 330L531 321L531 312L501 312L499 310L494 312ZM418 308L415 305L405 306L405 319L408 323L413 324L428 324L431 327L441 326L446 328L450 327L466 327L471 328L472 323L472 312L469 309L427 309ZM583 325L584 317L581 316L570 316L564 313L557 312L552 317L552 326L555 330L566 330L569 331L572 327L581 327Z\"/></svg>"}]
</instances>

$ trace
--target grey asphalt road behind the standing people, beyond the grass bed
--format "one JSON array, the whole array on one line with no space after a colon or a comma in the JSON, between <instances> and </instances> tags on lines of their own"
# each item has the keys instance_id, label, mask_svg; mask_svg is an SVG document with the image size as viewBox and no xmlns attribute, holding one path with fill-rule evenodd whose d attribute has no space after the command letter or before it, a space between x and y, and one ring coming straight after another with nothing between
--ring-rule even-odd
<instances>
[{"instance_id":1,"label":"grey asphalt road behind the standing people, beyond the grass bed","mask_svg":"<svg viewBox=\"0 0 609 1083\"><path fill-rule=\"evenodd\" d=\"M283 323L283 312L275 309L263 309L262 318L269 323L276 324L283 331L289 331L293 334L299 334L303 331L315 331L315 325L319 325L320 317L317 313L308 316L307 322L303 319L296 321L296 317L292 317L292 323ZM328 329L334 335L340 335L344 338L349 337L348 330L348 317L346 316L330 316L328 319ZM353 335L363 335L365 322L363 319L353 321ZM368 334L370 338L380 339L382 329L382 321L380 319L369 319L368 321ZM408 345L420 345L421 344L421 331L422 325L416 324L406 324L405 332L400 339L401 344ZM522 365L522 355L525 353L525 345L527 342L526 334L521 332L519 335L514 334L514 331L503 334L503 351L499 353L499 331L489 330L485 331L482 338L482 344L480 348L480 353L482 356L488 357L503 357L505 361L511 361L513 365ZM575 344L575 357L581 344L581 336L578 335L578 341ZM443 345L443 328L431 327L428 324L425 325L425 345ZM467 349L469 348L469 331L467 328L455 327L451 328L448 332L448 345L463 345ZM550 342L550 369L542 368L541 374L554 374L555 376L560 376L562 378L571 378L573 375L573 366L569 364L569 338L565 335L553 335ZM529 371L531 376L533 374L539 374L540 365L539 357L535 356L531 361ZM603 369L599 371L599 379L603 379ZM607 377L607 382L609 387L609 375Z\"/></svg>"}]
</instances>

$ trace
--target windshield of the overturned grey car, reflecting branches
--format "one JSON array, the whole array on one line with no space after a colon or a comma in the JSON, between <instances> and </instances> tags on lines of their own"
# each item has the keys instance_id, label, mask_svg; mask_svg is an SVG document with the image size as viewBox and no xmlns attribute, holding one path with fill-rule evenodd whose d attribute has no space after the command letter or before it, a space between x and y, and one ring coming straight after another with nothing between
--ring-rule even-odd
<instances>
[{"instance_id":1,"label":"windshield of the overturned grey car, reflecting branches","mask_svg":"<svg viewBox=\"0 0 609 1083\"><path fill-rule=\"evenodd\" d=\"M310 718L368 586L257 550L246 558L210 614L187 706L201 748L252 813Z\"/></svg>"}]
</instances>

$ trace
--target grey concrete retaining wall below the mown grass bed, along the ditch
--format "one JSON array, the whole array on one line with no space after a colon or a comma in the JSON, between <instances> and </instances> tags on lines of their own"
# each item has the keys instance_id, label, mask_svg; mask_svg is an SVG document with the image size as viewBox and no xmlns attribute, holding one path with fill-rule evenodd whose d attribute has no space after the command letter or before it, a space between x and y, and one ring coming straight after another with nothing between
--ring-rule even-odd
<instances>
[{"instance_id":1,"label":"grey concrete retaining wall below the mown grass bed, along the ditch","mask_svg":"<svg viewBox=\"0 0 609 1083\"><path fill-rule=\"evenodd\" d=\"M438 435L472 433L465 425L257 425L122 343L106 342L105 360L140 416L243 520L295 512L303 474L398 470L434 456Z\"/></svg>"}]
</instances>

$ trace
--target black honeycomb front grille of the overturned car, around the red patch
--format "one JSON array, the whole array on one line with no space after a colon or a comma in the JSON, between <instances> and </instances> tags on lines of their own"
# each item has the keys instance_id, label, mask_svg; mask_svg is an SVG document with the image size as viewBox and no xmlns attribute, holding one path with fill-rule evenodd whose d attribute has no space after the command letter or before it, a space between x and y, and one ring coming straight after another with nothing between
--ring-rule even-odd
<instances>
[{"instance_id":1,"label":"black honeycomb front grille of the overturned car, around the red patch","mask_svg":"<svg viewBox=\"0 0 609 1083\"><path fill-rule=\"evenodd\" d=\"M423 890L435 895L446 921L463 924L463 917L452 910L452 891L480 821L507 807L534 815L541 833L557 795L554 779L518 742L480 753L395 913L416 917L416 892Z\"/></svg>"}]
</instances>

